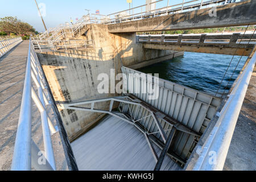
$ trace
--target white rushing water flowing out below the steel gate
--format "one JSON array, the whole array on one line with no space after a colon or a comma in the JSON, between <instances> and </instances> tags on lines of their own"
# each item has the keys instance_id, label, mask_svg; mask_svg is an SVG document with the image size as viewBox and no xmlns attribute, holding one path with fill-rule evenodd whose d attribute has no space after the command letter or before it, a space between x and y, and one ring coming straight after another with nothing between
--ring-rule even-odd
<instances>
[{"instance_id":1,"label":"white rushing water flowing out below the steel gate","mask_svg":"<svg viewBox=\"0 0 256 182\"><path fill-rule=\"evenodd\" d=\"M156 164L144 135L110 115L71 146L79 170L153 170ZM155 149L160 155L160 149ZM168 156L164 158L161 170L181 169Z\"/></svg>"}]
</instances>

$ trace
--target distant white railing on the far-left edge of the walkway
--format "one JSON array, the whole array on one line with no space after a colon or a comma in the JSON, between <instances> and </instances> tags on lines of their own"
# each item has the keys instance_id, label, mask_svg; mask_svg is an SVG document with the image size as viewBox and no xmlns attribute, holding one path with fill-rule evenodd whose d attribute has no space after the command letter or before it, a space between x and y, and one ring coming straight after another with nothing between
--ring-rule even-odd
<instances>
[{"instance_id":1,"label":"distant white railing on the far-left edge of the walkway","mask_svg":"<svg viewBox=\"0 0 256 182\"><path fill-rule=\"evenodd\" d=\"M10 36L2 36L0 37L0 57L9 52L12 48L17 46L20 42L22 42L22 38L11 38Z\"/></svg>"}]
</instances>

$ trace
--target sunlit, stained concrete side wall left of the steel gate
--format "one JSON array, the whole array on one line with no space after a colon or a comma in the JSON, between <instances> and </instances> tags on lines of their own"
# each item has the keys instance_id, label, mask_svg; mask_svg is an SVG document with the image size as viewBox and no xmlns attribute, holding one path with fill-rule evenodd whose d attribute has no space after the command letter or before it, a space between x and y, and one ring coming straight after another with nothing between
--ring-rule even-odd
<instances>
[{"instance_id":1,"label":"sunlit, stained concrete side wall left of the steel gate","mask_svg":"<svg viewBox=\"0 0 256 182\"><path fill-rule=\"evenodd\" d=\"M110 78L110 69L121 72L121 66L136 65L143 67L147 60L154 63L170 59L173 51L144 49L142 44L136 44L135 33L109 34L108 27L92 24L83 28L86 32L77 39L92 39L94 47L84 50L68 49L68 51L38 53L47 80L56 103L77 102L112 97L115 94L100 94L97 80L100 73L106 73ZM164 59L166 57L166 59ZM110 81L109 81L110 83ZM108 104L98 104L96 109L108 109ZM117 105L115 105L117 106ZM93 126L102 114L85 111L61 110L64 127L70 140L74 140Z\"/></svg>"}]
</instances>

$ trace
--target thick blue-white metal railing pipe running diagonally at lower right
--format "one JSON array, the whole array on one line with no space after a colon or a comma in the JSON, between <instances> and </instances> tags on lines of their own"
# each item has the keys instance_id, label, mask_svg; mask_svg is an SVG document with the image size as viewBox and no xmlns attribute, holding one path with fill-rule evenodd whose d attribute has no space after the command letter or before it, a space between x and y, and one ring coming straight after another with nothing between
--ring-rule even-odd
<instances>
[{"instance_id":1,"label":"thick blue-white metal railing pipe running diagonally at lower right","mask_svg":"<svg viewBox=\"0 0 256 182\"><path fill-rule=\"evenodd\" d=\"M193 170L212 171L223 169L255 62L256 53L254 53L241 76L238 78L236 86L234 86L226 104L219 114L220 117L216 125L202 146L199 159Z\"/></svg>"}]
</instances>

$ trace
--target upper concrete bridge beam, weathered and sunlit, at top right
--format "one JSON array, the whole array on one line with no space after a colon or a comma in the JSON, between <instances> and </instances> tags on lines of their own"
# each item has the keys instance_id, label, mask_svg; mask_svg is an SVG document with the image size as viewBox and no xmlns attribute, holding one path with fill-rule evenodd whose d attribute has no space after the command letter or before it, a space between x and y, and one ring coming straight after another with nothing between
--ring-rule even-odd
<instances>
[{"instance_id":1,"label":"upper concrete bridge beam, weathered and sunlit, at top right","mask_svg":"<svg viewBox=\"0 0 256 182\"><path fill-rule=\"evenodd\" d=\"M256 2L249 0L216 6L217 16L210 16L212 7L208 7L184 13L108 24L108 28L110 33L121 33L245 26L256 24L255 9Z\"/></svg>"}]
</instances>

